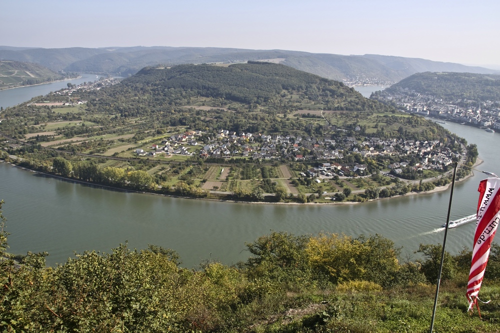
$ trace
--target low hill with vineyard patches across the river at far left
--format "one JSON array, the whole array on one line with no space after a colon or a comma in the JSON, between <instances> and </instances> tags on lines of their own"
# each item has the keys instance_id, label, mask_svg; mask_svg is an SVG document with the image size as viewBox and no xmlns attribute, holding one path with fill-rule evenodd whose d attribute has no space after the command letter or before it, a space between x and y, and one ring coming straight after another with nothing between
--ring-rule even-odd
<instances>
[{"instance_id":1,"label":"low hill with vineyard patches across the river at far left","mask_svg":"<svg viewBox=\"0 0 500 333\"><path fill-rule=\"evenodd\" d=\"M64 77L65 75L58 74L39 64L0 61L0 89L60 80Z\"/></svg>"}]
</instances>

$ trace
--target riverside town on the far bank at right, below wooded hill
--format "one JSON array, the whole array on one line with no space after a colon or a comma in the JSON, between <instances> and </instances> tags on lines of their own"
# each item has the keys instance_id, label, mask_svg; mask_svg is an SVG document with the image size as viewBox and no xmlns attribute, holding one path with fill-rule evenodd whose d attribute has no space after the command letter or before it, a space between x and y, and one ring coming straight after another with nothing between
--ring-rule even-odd
<instances>
[{"instance_id":1,"label":"riverside town on the far bank at right, below wooded hill","mask_svg":"<svg viewBox=\"0 0 500 333\"><path fill-rule=\"evenodd\" d=\"M493 101L463 100L462 103L461 99L444 101L434 96L418 93L411 94L411 96L398 93L384 96L384 98L397 101L399 108L410 113L500 130L500 108L496 107ZM498 105L497 103L500 101L496 101L496 105ZM464 108L458 104L467 105L467 107Z\"/></svg>"}]
</instances>

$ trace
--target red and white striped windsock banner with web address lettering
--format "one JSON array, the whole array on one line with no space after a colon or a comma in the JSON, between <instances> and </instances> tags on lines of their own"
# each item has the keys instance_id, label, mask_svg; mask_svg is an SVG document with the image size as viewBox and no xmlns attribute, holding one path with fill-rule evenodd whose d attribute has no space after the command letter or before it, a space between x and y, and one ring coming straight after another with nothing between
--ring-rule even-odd
<instances>
[{"instance_id":1,"label":"red and white striped windsock banner with web address lettering","mask_svg":"<svg viewBox=\"0 0 500 333\"><path fill-rule=\"evenodd\" d=\"M467 293L469 310L477 303L489 249L500 220L500 178L487 178L479 183L479 202L475 223L474 247L470 264Z\"/></svg>"}]
</instances>

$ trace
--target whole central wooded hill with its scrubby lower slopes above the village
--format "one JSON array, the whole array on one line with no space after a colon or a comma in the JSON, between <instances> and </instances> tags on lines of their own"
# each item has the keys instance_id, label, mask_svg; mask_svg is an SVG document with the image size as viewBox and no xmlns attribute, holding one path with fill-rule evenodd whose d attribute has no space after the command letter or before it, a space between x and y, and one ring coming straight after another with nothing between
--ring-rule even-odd
<instances>
[{"instance_id":1,"label":"whole central wooded hill with its scrubby lower slopes above the village","mask_svg":"<svg viewBox=\"0 0 500 333\"><path fill-rule=\"evenodd\" d=\"M115 86L82 98L89 99L89 105L97 109L113 109L125 117L180 106L268 114L297 110L377 112L389 108L341 82L268 62L146 67Z\"/></svg>"}]
</instances>

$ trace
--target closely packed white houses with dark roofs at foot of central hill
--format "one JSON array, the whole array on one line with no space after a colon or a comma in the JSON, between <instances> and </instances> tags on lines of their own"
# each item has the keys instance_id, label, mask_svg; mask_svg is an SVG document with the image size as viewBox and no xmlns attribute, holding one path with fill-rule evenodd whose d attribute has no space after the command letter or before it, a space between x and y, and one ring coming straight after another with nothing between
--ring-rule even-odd
<instances>
[{"instance_id":1,"label":"closely packed white houses with dark roofs at foot of central hill","mask_svg":"<svg viewBox=\"0 0 500 333\"><path fill-rule=\"evenodd\" d=\"M206 143L198 143L199 137L204 136ZM196 147L196 148L194 148ZM344 155L359 153L362 157L377 155L414 155L421 163L416 166L421 169L439 169L442 165L452 163L455 157L453 152L438 140L418 141L390 139L383 140L376 137L365 138L361 144L355 137L345 136L341 140L316 138L294 135L263 135L252 133L230 132L220 130L210 137L202 131L187 131L164 139L161 144L153 144L150 151L136 149L139 156L155 156L156 154L194 155L201 158L231 158L251 157L254 160L287 159L301 160L342 160ZM457 155L458 157L458 155ZM406 165L402 162L394 166L397 170ZM337 171L363 172L363 164L346 166L332 163L330 168ZM342 168L344 168L342 170ZM327 169L328 170L328 169ZM321 171L318 170L319 174Z\"/></svg>"}]
</instances>

